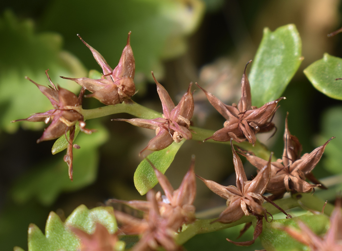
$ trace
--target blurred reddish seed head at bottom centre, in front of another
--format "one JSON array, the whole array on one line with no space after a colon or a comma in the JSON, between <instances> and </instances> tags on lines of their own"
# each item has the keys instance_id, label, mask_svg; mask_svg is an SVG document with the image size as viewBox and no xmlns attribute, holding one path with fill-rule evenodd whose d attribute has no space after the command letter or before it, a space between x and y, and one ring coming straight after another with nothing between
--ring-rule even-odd
<instances>
[{"instance_id":1,"label":"blurred reddish seed head at bottom centre, in front of another","mask_svg":"<svg viewBox=\"0 0 342 251\"><path fill-rule=\"evenodd\" d=\"M175 233L179 226L176 214L163 217L158 207L156 194L149 190L147 195L148 211L144 214L144 219L137 219L131 215L115 212L116 219L123 225L120 230L124 234L138 234L141 236L139 242L132 248L132 251L157 250L162 246L167 251L177 250L179 247L174 241Z\"/></svg>"}]
</instances>

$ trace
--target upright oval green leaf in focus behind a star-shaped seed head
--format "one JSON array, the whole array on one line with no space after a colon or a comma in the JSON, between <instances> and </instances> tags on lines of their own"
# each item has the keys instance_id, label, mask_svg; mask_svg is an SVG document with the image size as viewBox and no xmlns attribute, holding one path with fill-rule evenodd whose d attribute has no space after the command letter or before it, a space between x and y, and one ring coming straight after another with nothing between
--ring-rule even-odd
<instances>
[{"instance_id":1,"label":"upright oval green leaf in focus behind a star-shaped seed head","mask_svg":"<svg viewBox=\"0 0 342 251\"><path fill-rule=\"evenodd\" d=\"M301 53L302 41L295 25L281 26L273 32L264 29L248 76L254 106L280 97L303 60Z\"/></svg>"}]
</instances>

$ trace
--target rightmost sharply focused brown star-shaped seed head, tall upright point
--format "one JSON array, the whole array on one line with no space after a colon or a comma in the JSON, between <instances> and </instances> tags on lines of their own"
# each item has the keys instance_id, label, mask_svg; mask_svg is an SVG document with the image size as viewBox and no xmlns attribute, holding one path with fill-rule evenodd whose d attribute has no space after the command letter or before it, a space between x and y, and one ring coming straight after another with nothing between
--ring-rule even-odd
<instances>
[{"instance_id":1,"label":"rightmost sharply focused brown star-shaped seed head, tall upright point","mask_svg":"<svg viewBox=\"0 0 342 251\"><path fill-rule=\"evenodd\" d=\"M302 145L299 143L296 136L290 134L286 116L284 152L282 154L282 159L278 159L271 163L271 180L266 188L268 193L273 194L270 199L275 200L282 198L286 191L308 193L312 191L314 187L320 186L319 181L314 178L311 171L322 157L325 147L333 138L334 137L330 138L324 145L317 147L310 154L306 153L300 157ZM254 156L251 152L247 152L246 154L242 153L242 155L259 170L267 163L266 160ZM310 178L316 185L307 183L305 181L306 178Z\"/></svg>"}]
</instances>

